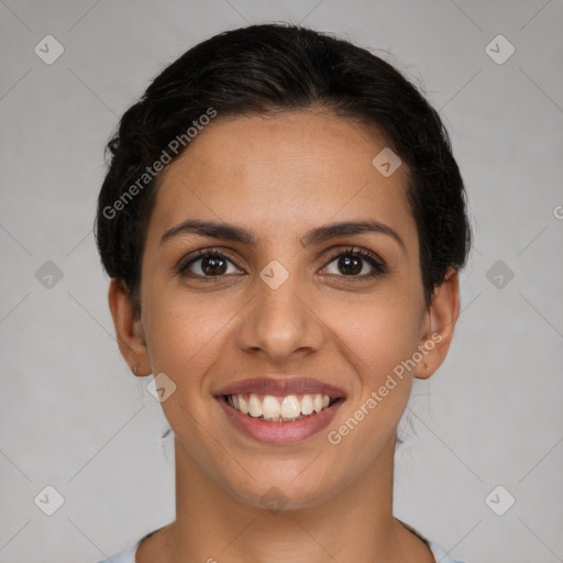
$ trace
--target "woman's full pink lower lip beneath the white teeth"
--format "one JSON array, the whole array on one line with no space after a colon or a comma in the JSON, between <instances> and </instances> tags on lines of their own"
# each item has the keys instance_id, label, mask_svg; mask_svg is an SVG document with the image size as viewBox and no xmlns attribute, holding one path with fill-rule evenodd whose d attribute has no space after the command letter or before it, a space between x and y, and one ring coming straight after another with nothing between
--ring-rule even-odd
<instances>
[{"instance_id":1,"label":"woman's full pink lower lip beneath the white teeth","mask_svg":"<svg viewBox=\"0 0 563 563\"><path fill-rule=\"evenodd\" d=\"M339 399L320 412L314 412L306 418L294 420L292 422L268 422L249 415L243 415L241 411L231 407L222 396L217 397L217 400L235 427L258 442L273 444L300 442L320 432L330 423L344 402L343 399Z\"/></svg>"}]
</instances>

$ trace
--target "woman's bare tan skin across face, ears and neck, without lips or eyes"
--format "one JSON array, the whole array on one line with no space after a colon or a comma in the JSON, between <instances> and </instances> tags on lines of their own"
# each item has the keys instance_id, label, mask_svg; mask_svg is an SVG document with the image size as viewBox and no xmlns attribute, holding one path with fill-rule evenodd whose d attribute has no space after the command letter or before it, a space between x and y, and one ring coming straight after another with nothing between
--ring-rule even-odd
<instances>
[{"instance_id":1,"label":"woman's bare tan skin across face, ears and neck, without lips or eyes","mask_svg":"<svg viewBox=\"0 0 563 563\"><path fill-rule=\"evenodd\" d=\"M144 540L136 562L432 562L422 540L393 517L396 429L413 377L445 358L460 312L450 268L427 307L419 241L402 165L384 177L372 161L385 140L323 110L275 118L219 115L165 170L142 262L135 318L125 288L109 301L123 356L136 375L165 373L176 390L162 407L175 432L176 520ZM187 219L234 223L256 245L163 234ZM316 227L376 219L397 232L365 232L303 247ZM389 272L360 260L360 282L339 267L350 246L376 254ZM201 279L177 266L200 249L231 262ZM273 260L288 279L260 277ZM203 261L205 262L205 261ZM197 277L197 274L200 277ZM333 445L327 439L402 360L441 341ZM344 389L329 428L298 443L264 444L240 432L213 398L247 377L307 375ZM275 486L285 505L263 496Z\"/></svg>"}]
</instances>

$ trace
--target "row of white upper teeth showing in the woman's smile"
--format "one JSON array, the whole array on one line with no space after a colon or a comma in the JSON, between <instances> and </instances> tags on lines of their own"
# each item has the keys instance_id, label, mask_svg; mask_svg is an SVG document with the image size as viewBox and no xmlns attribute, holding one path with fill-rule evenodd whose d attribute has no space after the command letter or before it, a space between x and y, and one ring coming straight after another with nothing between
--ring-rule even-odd
<instances>
[{"instance_id":1,"label":"row of white upper teeth showing in the woman's smile","mask_svg":"<svg viewBox=\"0 0 563 563\"><path fill-rule=\"evenodd\" d=\"M296 395L286 397L274 397L264 395L263 398L254 393L229 395L229 405L240 410L243 415L251 417L263 417L265 420L296 419L301 416L308 416L320 412L330 405L330 396L321 395L301 395L299 399Z\"/></svg>"}]
</instances>

